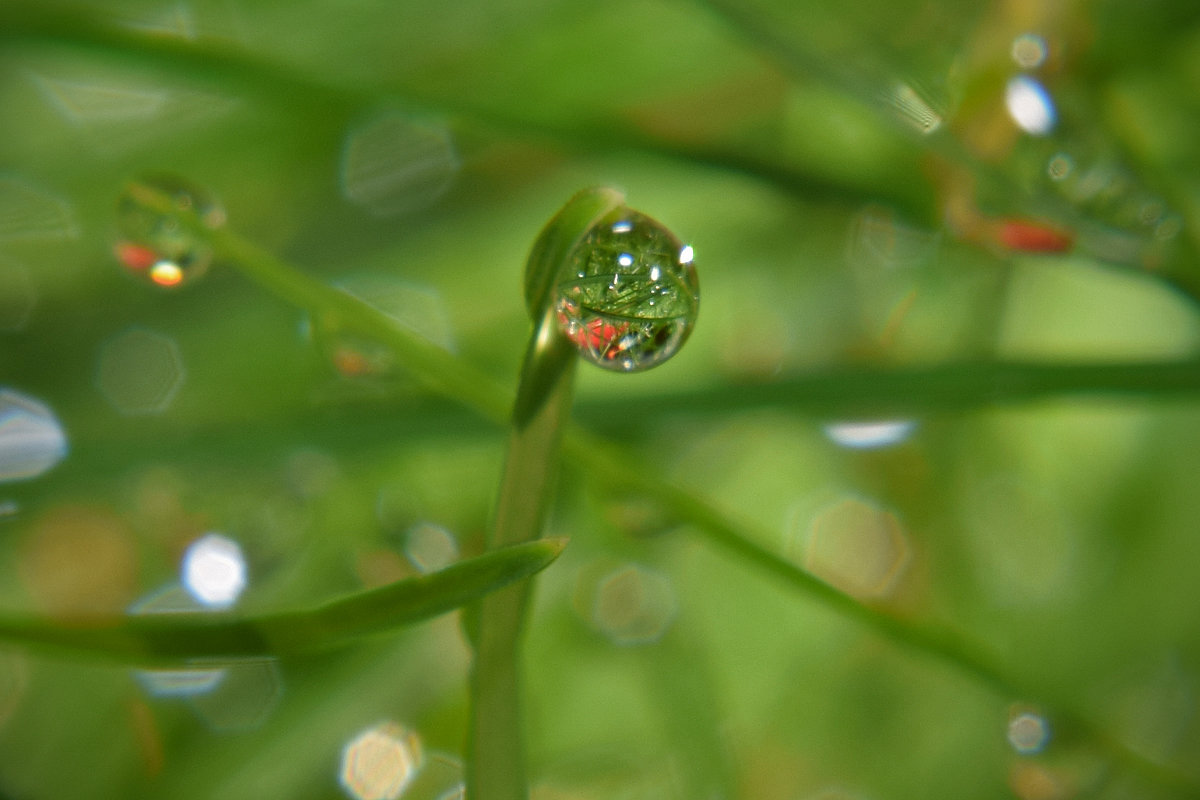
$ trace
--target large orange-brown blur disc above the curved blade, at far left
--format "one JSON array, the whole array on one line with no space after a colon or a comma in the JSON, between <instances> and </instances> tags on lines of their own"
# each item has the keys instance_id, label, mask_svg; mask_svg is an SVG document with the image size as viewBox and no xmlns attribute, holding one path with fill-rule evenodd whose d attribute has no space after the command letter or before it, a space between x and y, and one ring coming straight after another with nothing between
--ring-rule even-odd
<instances>
[{"instance_id":1,"label":"large orange-brown blur disc above the curved blade, at far left","mask_svg":"<svg viewBox=\"0 0 1200 800\"><path fill-rule=\"evenodd\" d=\"M32 523L18 567L36 604L52 615L115 614L133 597L137 546L109 509L61 505Z\"/></svg>"}]
</instances>

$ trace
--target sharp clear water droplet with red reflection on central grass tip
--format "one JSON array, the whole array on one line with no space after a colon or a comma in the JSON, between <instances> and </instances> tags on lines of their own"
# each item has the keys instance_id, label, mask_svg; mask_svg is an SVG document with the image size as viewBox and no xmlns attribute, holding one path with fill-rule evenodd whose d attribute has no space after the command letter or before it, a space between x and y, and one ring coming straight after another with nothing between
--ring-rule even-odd
<instances>
[{"instance_id":1,"label":"sharp clear water droplet with red reflection on central grass tip","mask_svg":"<svg viewBox=\"0 0 1200 800\"><path fill-rule=\"evenodd\" d=\"M563 333L605 369L637 372L674 355L700 307L692 249L654 219L618 209L580 242L558 284Z\"/></svg>"}]
</instances>

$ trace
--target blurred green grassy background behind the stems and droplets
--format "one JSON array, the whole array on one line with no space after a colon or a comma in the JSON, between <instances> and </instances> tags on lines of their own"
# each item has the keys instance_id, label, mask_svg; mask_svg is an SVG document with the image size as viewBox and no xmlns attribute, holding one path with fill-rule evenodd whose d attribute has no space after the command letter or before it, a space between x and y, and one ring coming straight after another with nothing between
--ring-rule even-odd
<instances>
[{"instance_id":1,"label":"blurred green grassy background behind the stems and droplets","mask_svg":"<svg viewBox=\"0 0 1200 800\"><path fill-rule=\"evenodd\" d=\"M0 602L125 609L206 531L245 553L247 613L481 549L505 432L233 265L168 290L128 275L128 180L204 187L239 234L510 386L527 249L608 184L694 245L703 300L666 366L581 368L577 420L1038 696L880 639L576 461L527 639L534 798L1188 792L1056 708L1195 792L1195 395L1153 373L954 410L901 389L866 398L905 409L880 420L790 381L1188 363L1198 112L1192 0L6 0L0 386L70 453L0 482ZM0 463L19 434L0 421ZM452 615L166 696L5 648L0 795L449 799L467 667Z\"/></svg>"}]
</instances>

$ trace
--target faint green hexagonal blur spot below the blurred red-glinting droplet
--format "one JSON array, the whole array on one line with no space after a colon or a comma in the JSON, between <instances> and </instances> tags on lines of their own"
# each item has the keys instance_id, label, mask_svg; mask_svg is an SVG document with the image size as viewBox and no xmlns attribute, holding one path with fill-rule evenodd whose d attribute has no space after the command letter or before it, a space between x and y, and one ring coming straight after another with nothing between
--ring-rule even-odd
<instances>
[{"instance_id":1,"label":"faint green hexagonal blur spot below the blurred red-glinting droplet","mask_svg":"<svg viewBox=\"0 0 1200 800\"><path fill-rule=\"evenodd\" d=\"M169 336L131 327L100 348L96 387L121 414L162 414L185 377L184 357Z\"/></svg>"}]
</instances>

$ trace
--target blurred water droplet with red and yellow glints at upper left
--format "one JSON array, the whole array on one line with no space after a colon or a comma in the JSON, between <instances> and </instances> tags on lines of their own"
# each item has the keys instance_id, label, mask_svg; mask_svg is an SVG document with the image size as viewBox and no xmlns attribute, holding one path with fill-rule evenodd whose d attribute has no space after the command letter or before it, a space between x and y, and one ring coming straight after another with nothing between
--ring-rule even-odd
<instances>
[{"instance_id":1,"label":"blurred water droplet with red and yellow glints at upper left","mask_svg":"<svg viewBox=\"0 0 1200 800\"><path fill-rule=\"evenodd\" d=\"M224 210L202 188L169 176L148 178L139 184L169 196L180 212L194 213L209 228L224 224ZM145 207L131 191L116 203L116 260L131 275L154 285L173 289L191 283L212 263L212 248L206 242L174 215Z\"/></svg>"}]
</instances>

